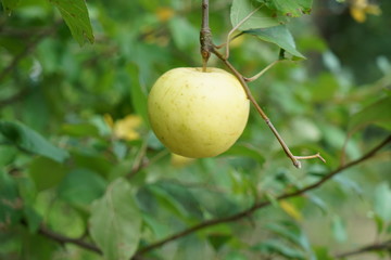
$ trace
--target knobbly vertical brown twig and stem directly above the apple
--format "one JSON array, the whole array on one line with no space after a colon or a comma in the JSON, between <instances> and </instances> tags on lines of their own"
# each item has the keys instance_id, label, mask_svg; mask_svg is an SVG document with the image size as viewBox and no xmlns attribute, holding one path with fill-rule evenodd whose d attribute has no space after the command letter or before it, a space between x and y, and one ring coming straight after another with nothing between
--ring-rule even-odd
<instances>
[{"instance_id":1,"label":"knobbly vertical brown twig and stem directly above the apple","mask_svg":"<svg viewBox=\"0 0 391 260\"><path fill-rule=\"evenodd\" d=\"M200 30L202 72L206 72L207 61L213 50L212 32L209 26L209 0L202 0L202 24Z\"/></svg>"}]
</instances>

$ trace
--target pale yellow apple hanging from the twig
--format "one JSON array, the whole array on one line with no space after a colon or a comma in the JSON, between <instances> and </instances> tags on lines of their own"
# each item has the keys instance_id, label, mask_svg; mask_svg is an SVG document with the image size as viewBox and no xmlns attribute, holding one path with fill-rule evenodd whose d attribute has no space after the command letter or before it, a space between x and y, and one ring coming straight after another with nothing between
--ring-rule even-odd
<instances>
[{"instance_id":1,"label":"pale yellow apple hanging from the twig","mask_svg":"<svg viewBox=\"0 0 391 260\"><path fill-rule=\"evenodd\" d=\"M152 130L173 153L212 157L227 151L247 125L250 102L239 80L214 67L163 74L148 98Z\"/></svg>"}]
</instances>

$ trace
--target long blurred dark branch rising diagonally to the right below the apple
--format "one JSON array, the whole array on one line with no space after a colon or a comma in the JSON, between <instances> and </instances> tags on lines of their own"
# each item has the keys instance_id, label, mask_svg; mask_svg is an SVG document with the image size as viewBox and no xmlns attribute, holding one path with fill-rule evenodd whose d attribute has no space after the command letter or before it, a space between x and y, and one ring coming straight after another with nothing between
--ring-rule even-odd
<instances>
[{"instance_id":1,"label":"long blurred dark branch rising diagonally to the right below the apple","mask_svg":"<svg viewBox=\"0 0 391 260\"><path fill-rule=\"evenodd\" d=\"M344 165L344 166L340 166L339 168L337 168L336 170L329 172L327 176L325 176L324 178L321 178L319 181L315 182L314 184L311 184L304 188L301 188L301 190L298 190L295 192L291 192L291 193L286 193L286 194L282 194L280 196L277 197L278 200L280 199L286 199L286 198L290 198L290 197L295 197L295 196L299 196L299 195L302 195L311 190L314 190L320 185L323 185L325 182L327 182L328 180L330 180L332 177L335 177L336 174L353 167L353 166L356 166L367 159L369 159L370 157L375 156L377 152L379 152L382 147L384 147L388 143L391 142L391 135L389 135L386 140L383 140L379 145L377 145L376 147L374 147L373 150L370 150L367 154L363 155L361 158L356 159L356 160L352 160L351 162ZM236 213L234 216L230 216L230 217L226 217L226 218L217 218L217 219L212 219L212 220L207 220L207 221L204 221L200 224L197 224L192 227L189 227L187 230L184 230L181 232L178 232L174 235L171 235L166 238L163 238L159 242L155 242L147 247L143 247L141 249L139 249L137 251L137 253L135 256L140 256L140 255L143 255L148 251L151 251L155 248L159 248L169 242L173 242L173 240L176 240L180 237L184 237L184 236L187 236L191 233L194 233L194 232L198 232L200 230L203 230L205 227L209 227L209 226L212 226L212 225L216 225L216 224L222 224L222 223L229 223L229 222L232 222L232 221L237 221L237 220L240 220L242 218L245 218L250 214L252 214L255 210L257 209L262 209L262 208L265 208L267 206L270 205L270 202L269 200L263 200L263 202L260 202L260 203L256 203L254 204L254 206L252 206L251 208L247 209L247 210L243 210L239 213Z\"/></svg>"}]
</instances>

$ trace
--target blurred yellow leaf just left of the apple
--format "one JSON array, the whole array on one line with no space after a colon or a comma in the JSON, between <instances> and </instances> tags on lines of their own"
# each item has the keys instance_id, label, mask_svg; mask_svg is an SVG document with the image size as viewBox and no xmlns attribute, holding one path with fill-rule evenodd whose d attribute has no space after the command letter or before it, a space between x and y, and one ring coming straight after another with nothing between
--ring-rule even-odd
<instances>
[{"instance_id":1,"label":"blurred yellow leaf just left of the apple","mask_svg":"<svg viewBox=\"0 0 391 260\"><path fill-rule=\"evenodd\" d=\"M117 139L127 141L137 140L140 134L136 129L141 125L141 118L136 115L129 115L114 123L114 135Z\"/></svg>"}]
</instances>

